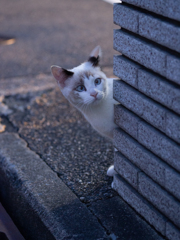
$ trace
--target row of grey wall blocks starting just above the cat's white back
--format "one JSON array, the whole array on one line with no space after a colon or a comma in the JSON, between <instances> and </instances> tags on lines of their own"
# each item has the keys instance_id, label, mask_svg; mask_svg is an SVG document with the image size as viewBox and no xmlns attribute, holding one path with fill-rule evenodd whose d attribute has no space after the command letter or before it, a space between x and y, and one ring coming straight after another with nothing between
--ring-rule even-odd
<instances>
[{"instance_id":1,"label":"row of grey wall blocks starting just above the cat's white back","mask_svg":"<svg viewBox=\"0 0 180 240\"><path fill-rule=\"evenodd\" d=\"M180 88L126 58L114 56L114 74L140 92L180 114Z\"/></svg>"}]
</instances>

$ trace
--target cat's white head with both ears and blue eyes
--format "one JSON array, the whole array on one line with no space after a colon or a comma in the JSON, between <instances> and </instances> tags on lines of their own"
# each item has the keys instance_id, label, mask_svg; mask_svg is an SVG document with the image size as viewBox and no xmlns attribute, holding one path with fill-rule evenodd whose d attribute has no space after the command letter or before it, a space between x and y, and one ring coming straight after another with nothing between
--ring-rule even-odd
<instances>
[{"instance_id":1,"label":"cat's white head with both ears and blue eyes","mask_svg":"<svg viewBox=\"0 0 180 240\"><path fill-rule=\"evenodd\" d=\"M99 67L101 48L97 46L88 61L67 70L52 66L51 72L63 95L78 108L97 105L107 94L106 75Z\"/></svg>"}]
</instances>

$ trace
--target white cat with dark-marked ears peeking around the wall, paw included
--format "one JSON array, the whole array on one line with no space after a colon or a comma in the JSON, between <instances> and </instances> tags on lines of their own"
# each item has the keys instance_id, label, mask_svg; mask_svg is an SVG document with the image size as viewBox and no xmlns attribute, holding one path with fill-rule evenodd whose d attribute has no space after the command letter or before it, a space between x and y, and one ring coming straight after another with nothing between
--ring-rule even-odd
<instances>
[{"instance_id":1,"label":"white cat with dark-marked ears peeking around the wall, paw included","mask_svg":"<svg viewBox=\"0 0 180 240\"><path fill-rule=\"evenodd\" d=\"M89 59L81 65L67 70L51 66L51 72L56 79L64 97L76 107L102 136L112 141L114 123L113 79L107 78L99 67L102 56L100 46L91 52ZM112 165L108 176L115 173Z\"/></svg>"}]
</instances>

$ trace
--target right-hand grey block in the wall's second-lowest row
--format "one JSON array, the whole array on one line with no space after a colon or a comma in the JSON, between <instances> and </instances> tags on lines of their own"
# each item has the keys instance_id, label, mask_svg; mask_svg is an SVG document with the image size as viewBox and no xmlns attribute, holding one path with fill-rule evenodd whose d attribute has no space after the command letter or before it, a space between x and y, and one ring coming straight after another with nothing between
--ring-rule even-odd
<instances>
[{"instance_id":1,"label":"right-hand grey block in the wall's second-lowest row","mask_svg":"<svg viewBox=\"0 0 180 240\"><path fill-rule=\"evenodd\" d=\"M159 187L144 173L138 175L138 191L160 212L180 227L180 202Z\"/></svg>"}]
</instances>

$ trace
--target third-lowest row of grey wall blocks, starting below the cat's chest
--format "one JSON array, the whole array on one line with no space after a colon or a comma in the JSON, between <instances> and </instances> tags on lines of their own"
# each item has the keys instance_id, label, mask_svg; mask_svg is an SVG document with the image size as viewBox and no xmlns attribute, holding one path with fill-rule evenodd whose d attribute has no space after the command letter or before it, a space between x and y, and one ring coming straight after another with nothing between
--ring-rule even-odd
<instances>
[{"instance_id":1,"label":"third-lowest row of grey wall blocks, starting below the cat's chest","mask_svg":"<svg viewBox=\"0 0 180 240\"><path fill-rule=\"evenodd\" d=\"M140 170L180 200L180 174L122 130L114 131L115 147Z\"/></svg>"}]
</instances>

